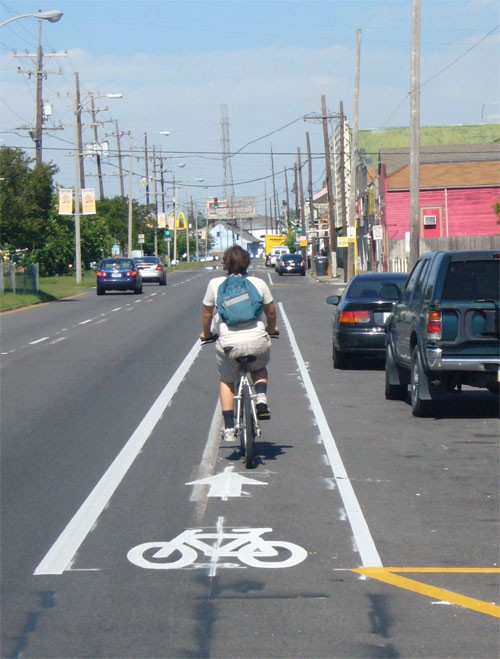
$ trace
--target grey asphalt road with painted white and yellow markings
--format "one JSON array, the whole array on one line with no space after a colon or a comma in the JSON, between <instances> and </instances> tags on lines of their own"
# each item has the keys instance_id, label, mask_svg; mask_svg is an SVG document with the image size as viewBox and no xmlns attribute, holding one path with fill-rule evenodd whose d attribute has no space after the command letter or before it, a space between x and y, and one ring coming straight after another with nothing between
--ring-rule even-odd
<instances>
[{"instance_id":1,"label":"grey asphalt road with painted white and yellow markings","mask_svg":"<svg viewBox=\"0 0 500 659\"><path fill-rule=\"evenodd\" d=\"M245 470L197 342L217 274L2 316L2 657L498 657L497 398L413 418L379 363L334 371L330 286L262 269Z\"/></svg>"}]
</instances>

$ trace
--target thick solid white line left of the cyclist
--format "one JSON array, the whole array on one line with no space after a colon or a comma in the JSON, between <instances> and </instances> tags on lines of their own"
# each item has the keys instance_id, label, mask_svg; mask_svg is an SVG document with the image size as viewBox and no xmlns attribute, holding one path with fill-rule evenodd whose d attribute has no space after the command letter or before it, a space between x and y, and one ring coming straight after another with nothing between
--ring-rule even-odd
<instances>
[{"instance_id":1,"label":"thick solid white line left of the cyclist","mask_svg":"<svg viewBox=\"0 0 500 659\"><path fill-rule=\"evenodd\" d=\"M82 542L97 523L100 514L106 508L116 488L142 450L156 424L161 419L167 405L172 400L182 380L193 365L201 343L193 345L184 361L166 384L163 391L148 410L146 416L103 474L87 499L75 513L61 535L49 549L33 574L63 574L71 567L71 562Z\"/></svg>"}]
</instances>

